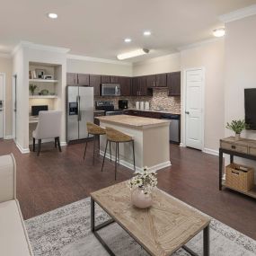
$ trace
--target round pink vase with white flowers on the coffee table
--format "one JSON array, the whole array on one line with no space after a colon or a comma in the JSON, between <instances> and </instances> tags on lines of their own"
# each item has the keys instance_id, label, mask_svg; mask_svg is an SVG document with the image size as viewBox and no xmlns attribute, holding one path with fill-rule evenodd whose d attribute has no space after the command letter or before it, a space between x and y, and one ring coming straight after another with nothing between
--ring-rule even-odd
<instances>
[{"instance_id":1,"label":"round pink vase with white flowers on the coffee table","mask_svg":"<svg viewBox=\"0 0 256 256\"><path fill-rule=\"evenodd\" d=\"M142 209L151 207L152 190L156 185L156 172L148 171L146 166L143 172L136 172L136 176L129 181L132 204Z\"/></svg>"}]
</instances>

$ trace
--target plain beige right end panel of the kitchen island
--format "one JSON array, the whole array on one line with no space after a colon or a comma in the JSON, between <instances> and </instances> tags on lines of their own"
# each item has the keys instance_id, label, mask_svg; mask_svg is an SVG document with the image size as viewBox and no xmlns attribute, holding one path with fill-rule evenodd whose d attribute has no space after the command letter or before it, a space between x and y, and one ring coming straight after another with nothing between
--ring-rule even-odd
<instances>
[{"instance_id":1,"label":"plain beige right end panel of the kitchen island","mask_svg":"<svg viewBox=\"0 0 256 256\"><path fill-rule=\"evenodd\" d=\"M144 165L152 171L170 166L169 124L147 128L143 133Z\"/></svg>"}]
</instances>

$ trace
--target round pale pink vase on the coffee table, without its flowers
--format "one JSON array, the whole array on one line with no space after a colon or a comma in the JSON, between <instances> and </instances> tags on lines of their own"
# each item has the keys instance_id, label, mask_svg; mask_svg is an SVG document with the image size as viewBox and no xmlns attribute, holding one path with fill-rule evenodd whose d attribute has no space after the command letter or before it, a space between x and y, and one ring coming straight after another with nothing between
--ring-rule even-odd
<instances>
[{"instance_id":1,"label":"round pale pink vase on the coffee table, without its flowers","mask_svg":"<svg viewBox=\"0 0 256 256\"><path fill-rule=\"evenodd\" d=\"M152 193L147 192L142 188L136 188L131 191L131 202L135 207L145 209L153 204Z\"/></svg>"}]
</instances>

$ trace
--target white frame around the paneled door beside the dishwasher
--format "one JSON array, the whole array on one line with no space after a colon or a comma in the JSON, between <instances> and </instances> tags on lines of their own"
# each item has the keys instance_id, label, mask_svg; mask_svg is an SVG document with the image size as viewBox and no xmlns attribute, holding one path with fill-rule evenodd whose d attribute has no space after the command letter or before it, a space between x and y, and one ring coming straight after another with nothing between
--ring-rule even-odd
<instances>
[{"instance_id":1,"label":"white frame around the paneled door beside the dishwasher","mask_svg":"<svg viewBox=\"0 0 256 256\"><path fill-rule=\"evenodd\" d=\"M184 68L183 69L183 75L182 75L182 110L181 110L181 134L182 134L182 141L180 146L187 146L186 145L186 108L187 108L187 103L186 103L186 97L187 97L187 80L186 80L186 74L188 71L193 71L193 70L198 70L200 69L202 71L202 95L201 95L201 103L202 103L202 119L201 119L201 140L202 140L202 148L201 151L204 151L205 148L205 87L206 87L206 68L205 66L198 66L198 67L190 67L190 68ZM183 116L183 117L182 117Z\"/></svg>"}]
</instances>

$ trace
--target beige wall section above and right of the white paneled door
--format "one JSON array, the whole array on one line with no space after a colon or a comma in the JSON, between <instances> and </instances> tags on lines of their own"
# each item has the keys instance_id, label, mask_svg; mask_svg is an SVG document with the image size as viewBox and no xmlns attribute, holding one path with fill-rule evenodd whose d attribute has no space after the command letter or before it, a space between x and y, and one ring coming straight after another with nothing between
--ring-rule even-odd
<instances>
[{"instance_id":1,"label":"beige wall section above and right of the white paneled door","mask_svg":"<svg viewBox=\"0 0 256 256\"><path fill-rule=\"evenodd\" d=\"M181 51L182 71L199 66L206 70L205 149L210 150L217 150L219 139L224 137L224 57L224 40Z\"/></svg>"}]
</instances>

